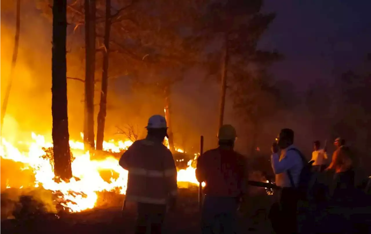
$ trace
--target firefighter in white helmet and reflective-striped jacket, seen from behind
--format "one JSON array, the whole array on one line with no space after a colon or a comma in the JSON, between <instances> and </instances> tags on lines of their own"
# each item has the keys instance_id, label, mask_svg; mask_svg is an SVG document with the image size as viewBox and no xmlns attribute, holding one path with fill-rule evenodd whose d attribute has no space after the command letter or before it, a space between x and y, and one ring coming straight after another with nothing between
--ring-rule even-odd
<instances>
[{"instance_id":1,"label":"firefighter in white helmet and reflective-striped jacket, seen from behind","mask_svg":"<svg viewBox=\"0 0 371 234\"><path fill-rule=\"evenodd\" d=\"M177 170L173 155L162 143L167 136L163 116L150 117L147 137L135 141L122 154L119 165L128 171L123 210L137 211L135 234L160 234L167 208L174 209L177 196Z\"/></svg>"}]
</instances>

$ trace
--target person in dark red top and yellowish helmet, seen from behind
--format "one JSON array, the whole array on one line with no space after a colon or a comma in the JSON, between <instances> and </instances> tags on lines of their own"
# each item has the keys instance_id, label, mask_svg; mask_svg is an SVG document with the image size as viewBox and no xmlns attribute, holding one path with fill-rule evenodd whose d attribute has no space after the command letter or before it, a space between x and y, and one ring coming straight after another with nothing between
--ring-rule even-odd
<instances>
[{"instance_id":1,"label":"person in dark red top and yellowish helmet, seen from behind","mask_svg":"<svg viewBox=\"0 0 371 234\"><path fill-rule=\"evenodd\" d=\"M237 210L246 192L247 168L244 157L233 150L236 130L231 125L219 129L219 147L206 151L197 160L196 178L205 182L202 210L202 233L214 228L235 233Z\"/></svg>"}]
</instances>

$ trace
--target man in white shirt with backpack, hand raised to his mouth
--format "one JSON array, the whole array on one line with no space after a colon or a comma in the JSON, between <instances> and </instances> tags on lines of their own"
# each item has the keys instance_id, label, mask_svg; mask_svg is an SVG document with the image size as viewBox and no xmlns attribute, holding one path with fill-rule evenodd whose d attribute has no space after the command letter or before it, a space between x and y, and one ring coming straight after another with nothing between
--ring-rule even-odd
<instances>
[{"instance_id":1,"label":"man in white shirt with backpack, hand raised to his mouth","mask_svg":"<svg viewBox=\"0 0 371 234\"><path fill-rule=\"evenodd\" d=\"M282 187L280 208L282 222L279 222L279 233L297 233L296 208L299 200L299 182L305 166L300 151L293 146L294 132L289 128L280 131L277 142L273 143L271 163L276 174L276 184ZM279 149L281 150L278 155ZM273 223L272 223L273 225ZM276 228L277 229L277 228ZM277 232L278 230L276 230Z\"/></svg>"}]
</instances>

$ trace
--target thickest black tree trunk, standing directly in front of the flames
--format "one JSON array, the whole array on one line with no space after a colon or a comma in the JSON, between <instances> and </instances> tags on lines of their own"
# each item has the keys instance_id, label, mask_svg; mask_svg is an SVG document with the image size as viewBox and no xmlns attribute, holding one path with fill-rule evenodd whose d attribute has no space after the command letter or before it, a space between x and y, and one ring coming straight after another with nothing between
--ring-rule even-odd
<instances>
[{"instance_id":1,"label":"thickest black tree trunk, standing directly in front of the flames","mask_svg":"<svg viewBox=\"0 0 371 234\"><path fill-rule=\"evenodd\" d=\"M54 173L62 180L72 177L67 115L67 0L53 1L52 117Z\"/></svg>"}]
</instances>

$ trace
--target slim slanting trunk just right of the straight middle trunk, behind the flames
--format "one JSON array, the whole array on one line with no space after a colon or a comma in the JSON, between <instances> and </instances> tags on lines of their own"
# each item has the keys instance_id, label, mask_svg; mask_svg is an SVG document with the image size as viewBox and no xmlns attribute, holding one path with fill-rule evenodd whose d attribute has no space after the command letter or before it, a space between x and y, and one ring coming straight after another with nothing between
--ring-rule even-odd
<instances>
[{"instance_id":1,"label":"slim slanting trunk just right of the straight middle trunk, behind the flames","mask_svg":"<svg viewBox=\"0 0 371 234\"><path fill-rule=\"evenodd\" d=\"M104 54L103 54L103 71L101 102L99 104L97 131L96 131L96 149L103 150L104 124L107 113L107 89L108 89L108 56L109 56L109 34L111 33L111 0L106 0L106 20L104 32Z\"/></svg>"}]
</instances>

